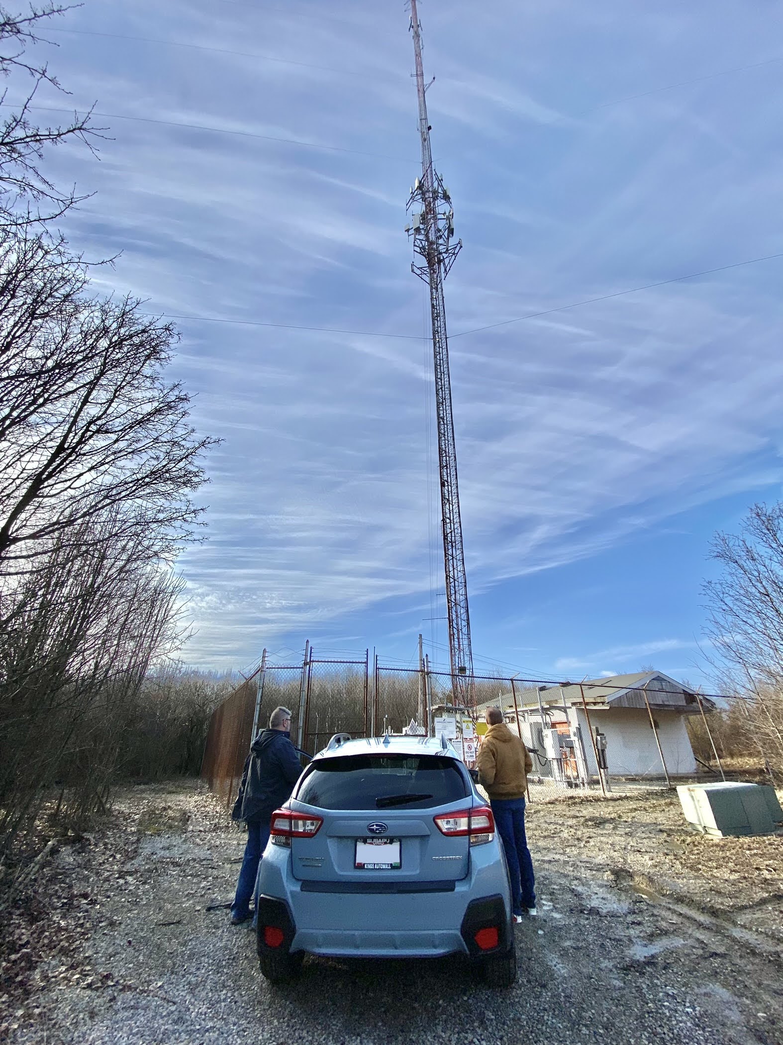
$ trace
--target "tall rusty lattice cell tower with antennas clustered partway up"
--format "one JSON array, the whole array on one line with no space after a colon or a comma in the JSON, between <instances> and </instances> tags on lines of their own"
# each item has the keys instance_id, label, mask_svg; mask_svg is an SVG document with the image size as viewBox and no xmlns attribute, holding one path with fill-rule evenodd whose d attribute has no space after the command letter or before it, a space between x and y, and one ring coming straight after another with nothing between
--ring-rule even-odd
<instances>
[{"instance_id":1,"label":"tall rusty lattice cell tower with antennas clustered partway up","mask_svg":"<svg viewBox=\"0 0 783 1045\"><path fill-rule=\"evenodd\" d=\"M465 574L462 524L459 518L459 488L456 473L454 417L451 408L449 343L446 335L446 302L443 284L461 250L462 241L452 242L454 211L449 190L432 166L432 149L427 118L427 87L422 65L422 32L417 0L410 0L410 29L413 33L416 86L419 94L419 134L422 139L422 177L417 178L408 200L411 222L406 232L418 255L412 271L429 284L432 312L432 351L435 375L437 457L441 473L441 517L446 565L446 604L449 617L449 654L454 702L462 707L475 704L473 653L468 613L468 581ZM420 260L421 259L421 260Z\"/></svg>"}]
</instances>

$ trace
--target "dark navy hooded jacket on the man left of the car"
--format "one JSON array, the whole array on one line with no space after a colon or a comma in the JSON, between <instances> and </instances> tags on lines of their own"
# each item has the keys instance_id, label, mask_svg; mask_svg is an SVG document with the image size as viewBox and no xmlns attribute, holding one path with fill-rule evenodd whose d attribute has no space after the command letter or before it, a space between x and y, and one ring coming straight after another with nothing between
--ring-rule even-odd
<instances>
[{"instance_id":1,"label":"dark navy hooded jacket on the man left of the car","mask_svg":"<svg viewBox=\"0 0 783 1045\"><path fill-rule=\"evenodd\" d=\"M301 772L302 764L290 734L264 729L251 744L231 818L268 820L290 798Z\"/></svg>"}]
</instances>

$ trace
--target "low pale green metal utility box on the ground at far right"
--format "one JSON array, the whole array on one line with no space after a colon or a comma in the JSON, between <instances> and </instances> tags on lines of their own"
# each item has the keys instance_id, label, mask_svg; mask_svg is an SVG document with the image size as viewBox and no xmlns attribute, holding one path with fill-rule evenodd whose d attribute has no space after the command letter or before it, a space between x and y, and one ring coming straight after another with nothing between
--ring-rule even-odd
<instances>
[{"instance_id":1,"label":"low pale green metal utility box on the ground at far right","mask_svg":"<svg viewBox=\"0 0 783 1045\"><path fill-rule=\"evenodd\" d=\"M768 835L783 821L775 789L760 784L681 784L685 819L714 838Z\"/></svg>"}]
</instances>

